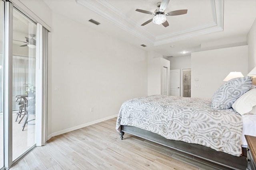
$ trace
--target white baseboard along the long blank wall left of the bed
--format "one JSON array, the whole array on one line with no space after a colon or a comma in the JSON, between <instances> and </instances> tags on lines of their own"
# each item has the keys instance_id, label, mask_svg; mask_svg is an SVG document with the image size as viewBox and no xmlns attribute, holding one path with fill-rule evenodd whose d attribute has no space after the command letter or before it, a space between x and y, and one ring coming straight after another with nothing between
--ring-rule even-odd
<instances>
[{"instance_id":1,"label":"white baseboard along the long blank wall left of the bed","mask_svg":"<svg viewBox=\"0 0 256 170\"><path fill-rule=\"evenodd\" d=\"M102 121L106 121L108 119L112 119L112 118L117 117L117 116L118 115L112 115L112 116L109 116L109 117L98 119L96 121L91 121L91 122L88 122L88 123L84 123L82 125L78 125L78 126L75 126L75 127L70 127L68 129L64 129L64 130L61 130L61 131L58 131L58 132L51 133L50 135L48 135L48 140L51 139L54 136L61 135L63 133L68 133L68 132L74 131L76 129L81 129L83 127L90 126L90 125L93 125L93 124L96 124L96 123L100 123Z\"/></svg>"}]
</instances>

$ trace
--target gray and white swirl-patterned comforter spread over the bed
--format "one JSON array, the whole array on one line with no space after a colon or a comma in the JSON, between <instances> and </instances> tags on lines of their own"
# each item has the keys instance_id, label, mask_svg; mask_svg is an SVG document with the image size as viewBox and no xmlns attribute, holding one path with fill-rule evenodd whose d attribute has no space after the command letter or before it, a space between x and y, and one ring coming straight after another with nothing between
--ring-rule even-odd
<instances>
[{"instance_id":1,"label":"gray and white swirl-patterned comforter spread over the bed","mask_svg":"<svg viewBox=\"0 0 256 170\"><path fill-rule=\"evenodd\" d=\"M240 156L242 117L233 109L211 109L210 99L153 95L124 102L116 122Z\"/></svg>"}]
</instances>

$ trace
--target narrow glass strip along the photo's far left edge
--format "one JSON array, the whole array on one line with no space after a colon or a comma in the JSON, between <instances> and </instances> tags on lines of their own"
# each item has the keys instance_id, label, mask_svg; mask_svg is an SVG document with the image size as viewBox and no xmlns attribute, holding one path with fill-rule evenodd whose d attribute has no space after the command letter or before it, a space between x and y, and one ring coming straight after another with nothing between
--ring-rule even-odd
<instances>
[{"instance_id":1,"label":"narrow glass strip along the photo's far left edge","mask_svg":"<svg viewBox=\"0 0 256 170\"><path fill-rule=\"evenodd\" d=\"M3 60L3 27L4 2L0 0L0 168L4 166L4 60Z\"/></svg>"}]
</instances>

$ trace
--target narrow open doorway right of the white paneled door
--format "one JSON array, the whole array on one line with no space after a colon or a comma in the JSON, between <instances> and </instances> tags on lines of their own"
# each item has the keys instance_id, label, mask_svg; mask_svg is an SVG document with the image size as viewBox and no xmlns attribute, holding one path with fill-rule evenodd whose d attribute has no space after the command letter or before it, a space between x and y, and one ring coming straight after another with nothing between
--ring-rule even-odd
<instances>
[{"instance_id":1,"label":"narrow open doorway right of the white paneled door","mask_svg":"<svg viewBox=\"0 0 256 170\"><path fill-rule=\"evenodd\" d=\"M182 69L182 94L183 97L191 97L191 69Z\"/></svg>"}]
</instances>

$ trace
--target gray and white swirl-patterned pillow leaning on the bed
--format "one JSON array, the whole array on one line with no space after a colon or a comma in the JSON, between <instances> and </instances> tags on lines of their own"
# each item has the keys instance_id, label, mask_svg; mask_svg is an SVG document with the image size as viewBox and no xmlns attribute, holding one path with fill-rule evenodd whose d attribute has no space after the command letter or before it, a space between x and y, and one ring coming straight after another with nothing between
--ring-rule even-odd
<instances>
[{"instance_id":1,"label":"gray and white swirl-patterned pillow leaning on the bed","mask_svg":"<svg viewBox=\"0 0 256 170\"><path fill-rule=\"evenodd\" d=\"M212 97L212 109L230 109L242 94L250 90L251 77L233 78L220 86Z\"/></svg>"}]
</instances>

